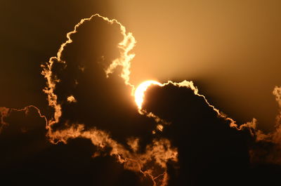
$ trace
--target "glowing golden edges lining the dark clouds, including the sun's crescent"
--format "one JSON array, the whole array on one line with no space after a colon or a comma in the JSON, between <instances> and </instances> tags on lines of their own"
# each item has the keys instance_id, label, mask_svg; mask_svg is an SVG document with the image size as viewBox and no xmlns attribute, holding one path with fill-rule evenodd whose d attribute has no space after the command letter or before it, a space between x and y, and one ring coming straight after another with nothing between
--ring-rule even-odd
<instances>
[{"instance_id":1,"label":"glowing golden edges lining the dark clouds, including the sun's crescent","mask_svg":"<svg viewBox=\"0 0 281 186\"><path fill-rule=\"evenodd\" d=\"M99 14L92 15L91 18L85 18L82 19L77 25L75 25L74 30L72 32L67 33L67 41L63 43L57 53L57 56L51 57L48 62L46 62L45 65L41 65L43 68L43 71L41 74L46 79L46 88L44 88L44 93L48 96L48 105L50 107L53 107L54 114L51 119L47 119L43 114L41 114L41 111L38 107L35 107L33 105L29 105L27 107L24 107L22 109L14 109L14 108L7 108L7 107L0 107L0 133L2 129L5 126L8 126L8 123L4 120L6 117L8 117L11 112L28 112L30 109L36 109L36 111L39 114L39 117L44 118L46 122L46 129L47 129L47 137L50 142L58 143L58 142L64 142L67 143L67 140L73 139L73 138L88 138L92 141L93 145L96 145L100 148L104 148L105 146L112 147L112 152L110 152L110 155L117 157L117 160L124 164L124 168L130 169L132 171L139 171L143 173L145 176L149 176L152 179L153 185L157 185L156 180L159 175L152 175L150 172L150 169L144 169L143 165L146 164L152 157L157 159L157 164L159 166L162 166L164 168L164 173L161 175L164 175L164 178L161 179L160 184L166 185L167 180L169 178L168 173L166 172L166 161L171 159L173 161L177 161L177 150L174 147L171 147L171 144L169 140L161 139L161 140L154 140L152 145L148 145L147 150L144 154L138 154L137 148L135 146L138 146L138 139L133 139L129 141L129 144L133 144L131 147L133 150L133 153L129 152L129 150L126 150L126 148L123 147L123 145L119 144L117 141L112 140L110 138L110 135L106 133L105 131L98 130L97 128L92 128L89 131L86 131L84 129L83 124L70 124L70 128L67 128L62 131L54 131L52 126L53 124L57 124L60 120L62 111L61 111L61 105L57 102L57 95L55 95L55 85L56 82L59 81L59 79L55 79L52 77L52 69L53 69L53 62L58 60L58 62L65 61L61 60L61 53L63 52L65 46L72 43L71 35L77 32L77 28L82 25L85 21L89 21L93 18L102 18L106 22L109 22L110 24L117 24L120 27L120 32L124 36L124 40L121 41L118 44L118 48L120 49L120 58L115 59L112 61L112 64L110 64L110 67L105 69L105 74L108 75L111 74L117 66L122 66L122 74L121 77L124 79L124 83L128 86L131 86L132 92L134 91L135 101L136 105L138 106L139 111L141 111L143 99L145 96L145 91L147 88L151 85L158 85L158 86L166 86L167 84L173 84L174 86L178 87L186 87L192 89L194 91L195 95L198 95L207 102L209 107L213 108L214 111L217 112L218 117L223 117L224 119L230 121L230 127L236 128L237 130L242 130L243 128L249 128L252 135L256 135L256 141L263 140L263 141L269 141L273 142L275 145L277 145L277 150L280 150L280 142L281 142L281 109L279 114L276 117L276 128L275 131L272 133L263 133L260 130L257 130L256 128L256 119L253 119L253 121L248 122L247 124L243 124L241 126L237 126L236 122L231 119L230 117L227 117L225 114L221 113L218 109L216 109L213 105L209 104L207 99L204 97L204 95L200 95L198 93L197 87L195 87L192 83L192 81L182 81L180 83L176 83L173 81L168 81L167 83L160 84L157 81L148 80L144 81L142 84L140 84L136 89L135 87L130 84L129 82L129 76L130 76L130 67L131 67L131 60L134 57L134 54L130 53L133 46L136 44L136 40L134 39L133 35L130 32L126 32L125 27L118 22L115 19L110 20L109 18L103 17ZM278 102L279 106L281 107L281 87L276 86L273 91L273 95L275 95L275 99ZM74 97L72 98L70 96L69 102L75 102L76 100ZM141 113L141 112L140 112ZM152 117L159 123L162 121L162 119L159 119L159 117L155 116L152 113L148 112L142 112L143 114L146 114L148 117ZM163 122L162 122L163 123ZM160 127L159 131L162 131L162 126ZM159 149L163 149L162 147L168 147L166 151L159 153ZM280 152L280 151L279 151ZM161 154L164 154L164 156L161 156ZM251 155L255 154L255 152L251 152ZM275 162L277 164L281 164L280 157L266 157L267 161ZM268 160L269 159L269 160ZM138 165L136 166L129 166L131 161L136 162Z\"/></svg>"}]
</instances>

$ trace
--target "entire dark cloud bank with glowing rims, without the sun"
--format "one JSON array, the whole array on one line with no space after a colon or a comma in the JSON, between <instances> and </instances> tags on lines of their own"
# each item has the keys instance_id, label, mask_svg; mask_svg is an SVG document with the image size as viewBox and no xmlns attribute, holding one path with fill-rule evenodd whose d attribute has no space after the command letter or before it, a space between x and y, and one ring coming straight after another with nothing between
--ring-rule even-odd
<instances>
[{"instance_id":1,"label":"entire dark cloud bank with glowing rims, without the sun","mask_svg":"<svg viewBox=\"0 0 281 186\"><path fill-rule=\"evenodd\" d=\"M41 65L48 107L0 107L3 185L280 185L280 113L272 133L237 124L191 81L151 85L141 112L134 45L98 14L68 32Z\"/></svg>"}]
</instances>

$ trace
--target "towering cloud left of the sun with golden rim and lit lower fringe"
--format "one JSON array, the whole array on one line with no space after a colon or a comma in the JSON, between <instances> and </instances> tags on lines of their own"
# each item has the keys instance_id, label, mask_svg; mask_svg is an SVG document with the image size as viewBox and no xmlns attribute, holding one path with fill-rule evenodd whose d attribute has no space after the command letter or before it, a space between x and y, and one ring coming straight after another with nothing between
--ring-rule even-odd
<instances>
[{"instance_id":1,"label":"towering cloud left of the sun with golden rim and lit lower fringe","mask_svg":"<svg viewBox=\"0 0 281 186\"><path fill-rule=\"evenodd\" d=\"M129 74L134 55L129 52L135 44L117 20L96 14L75 25L57 56L42 66L44 92L54 110L47 136L53 143L89 139L98 147L93 157L106 152L153 185L166 185L166 163L177 161L177 150L169 140L153 136L157 124L140 115L133 102ZM138 142L128 147L132 138Z\"/></svg>"}]
</instances>

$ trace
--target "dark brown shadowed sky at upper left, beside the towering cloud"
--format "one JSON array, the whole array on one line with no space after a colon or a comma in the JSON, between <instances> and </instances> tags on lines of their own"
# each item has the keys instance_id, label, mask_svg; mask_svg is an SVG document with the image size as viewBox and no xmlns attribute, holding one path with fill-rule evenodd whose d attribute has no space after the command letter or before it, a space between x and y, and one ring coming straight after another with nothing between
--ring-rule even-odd
<instances>
[{"instance_id":1,"label":"dark brown shadowed sky at upper left, beside the towering cloud","mask_svg":"<svg viewBox=\"0 0 281 186\"><path fill-rule=\"evenodd\" d=\"M112 17L112 6L106 0L1 1L0 105L37 105L47 113L41 63L57 53L65 33L81 18L105 12Z\"/></svg>"}]
</instances>

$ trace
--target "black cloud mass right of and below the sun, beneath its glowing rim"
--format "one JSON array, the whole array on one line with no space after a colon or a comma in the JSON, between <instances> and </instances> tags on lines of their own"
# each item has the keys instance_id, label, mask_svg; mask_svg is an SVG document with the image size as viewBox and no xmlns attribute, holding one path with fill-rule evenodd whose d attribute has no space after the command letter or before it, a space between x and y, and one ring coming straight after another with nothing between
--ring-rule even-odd
<instances>
[{"instance_id":1,"label":"black cloud mass right of and below the sun, beneath its glowing rim","mask_svg":"<svg viewBox=\"0 0 281 186\"><path fill-rule=\"evenodd\" d=\"M277 161L261 161L263 157L253 162L251 153L253 149L266 156L279 153L268 152L268 145L261 145L265 141L256 140L258 130L253 136L253 128L230 127L230 120L219 116L191 88L151 86L143 107L171 122L163 130L178 147L179 169L174 170L171 185L278 185L273 176L281 171Z\"/></svg>"}]
</instances>

